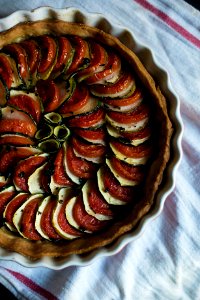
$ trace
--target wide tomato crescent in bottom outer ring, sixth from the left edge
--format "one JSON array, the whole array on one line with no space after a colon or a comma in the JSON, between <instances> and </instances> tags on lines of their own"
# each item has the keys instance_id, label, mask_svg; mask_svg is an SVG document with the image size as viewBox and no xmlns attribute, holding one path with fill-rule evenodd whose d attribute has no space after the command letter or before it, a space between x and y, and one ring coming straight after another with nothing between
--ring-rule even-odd
<instances>
[{"instance_id":1,"label":"wide tomato crescent in bottom outer ring, sixth from the left edge","mask_svg":"<svg viewBox=\"0 0 200 300\"><path fill-rule=\"evenodd\" d=\"M77 197L73 207L73 217L81 229L91 232L99 231L108 224L107 221L99 221L85 211L81 195Z\"/></svg>"}]
</instances>

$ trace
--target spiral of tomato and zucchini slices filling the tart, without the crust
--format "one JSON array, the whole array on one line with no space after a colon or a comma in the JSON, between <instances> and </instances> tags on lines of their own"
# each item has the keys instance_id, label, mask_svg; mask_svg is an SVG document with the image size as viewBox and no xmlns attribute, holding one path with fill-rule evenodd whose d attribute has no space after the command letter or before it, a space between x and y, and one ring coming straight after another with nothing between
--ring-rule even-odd
<instances>
[{"instance_id":1,"label":"spiral of tomato and zucchini slices filling the tart, without the crust","mask_svg":"<svg viewBox=\"0 0 200 300\"><path fill-rule=\"evenodd\" d=\"M31 240L102 230L137 202L150 108L128 64L79 36L0 52L0 219Z\"/></svg>"}]
</instances>

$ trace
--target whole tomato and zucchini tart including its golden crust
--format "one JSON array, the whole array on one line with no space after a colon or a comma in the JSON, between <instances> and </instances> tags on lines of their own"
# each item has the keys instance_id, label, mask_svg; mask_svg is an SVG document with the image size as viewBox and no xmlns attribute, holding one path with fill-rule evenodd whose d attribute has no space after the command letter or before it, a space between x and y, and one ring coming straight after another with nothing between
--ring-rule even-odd
<instances>
[{"instance_id":1,"label":"whole tomato and zucchini tart including its golden crust","mask_svg":"<svg viewBox=\"0 0 200 300\"><path fill-rule=\"evenodd\" d=\"M0 245L32 259L103 247L154 205L167 105L138 57L84 24L0 35Z\"/></svg>"}]
</instances>

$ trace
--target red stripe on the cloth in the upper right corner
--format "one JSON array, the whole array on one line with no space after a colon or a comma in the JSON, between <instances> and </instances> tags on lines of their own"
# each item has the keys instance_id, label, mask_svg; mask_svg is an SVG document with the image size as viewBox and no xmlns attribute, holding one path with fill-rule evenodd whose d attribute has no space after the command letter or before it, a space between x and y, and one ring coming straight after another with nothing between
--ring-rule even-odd
<instances>
[{"instance_id":1,"label":"red stripe on the cloth in the upper right corner","mask_svg":"<svg viewBox=\"0 0 200 300\"><path fill-rule=\"evenodd\" d=\"M188 41L190 41L196 47L200 48L200 39L198 39L197 37L195 37L188 30L186 30L184 27L182 27L177 22L175 22L166 13L162 12L160 9L156 8L155 6L153 6L147 0L134 0L134 1L137 2L137 3L139 3L140 5L142 5L144 8L146 8L150 12L154 13L157 17L159 17L161 20L163 20L168 26L170 26L176 32L178 32L179 34L181 34L185 39L187 39Z\"/></svg>"}]
</instances>

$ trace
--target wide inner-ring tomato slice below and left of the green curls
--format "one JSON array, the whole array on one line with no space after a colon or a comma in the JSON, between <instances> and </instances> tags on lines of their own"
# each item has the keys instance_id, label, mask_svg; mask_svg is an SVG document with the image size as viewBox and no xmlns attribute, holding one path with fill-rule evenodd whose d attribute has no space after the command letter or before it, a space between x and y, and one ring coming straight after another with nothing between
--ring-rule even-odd
<instances>
[{"instance_id":1,"label":"wide inner-ring tomato slice below and left of the green curls","mask_svg":"<svg viewBox=\"0 0 200 300\"><path fill-rule=\"evenodd\" d=\"M15 167L13 180L15 185L22 191L28 192L28 178L46 160L44 156L33 156L21 160Z\"/></svg>"}]
</instances>

